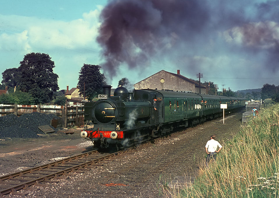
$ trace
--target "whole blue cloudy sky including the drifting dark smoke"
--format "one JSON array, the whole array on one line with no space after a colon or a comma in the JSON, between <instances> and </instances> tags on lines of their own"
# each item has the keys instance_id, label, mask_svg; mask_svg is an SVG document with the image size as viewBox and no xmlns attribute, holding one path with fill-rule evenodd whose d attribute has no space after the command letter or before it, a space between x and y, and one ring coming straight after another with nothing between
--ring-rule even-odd
<instances>
[{"instance_id":1,"label":"whole blue cloudy sky including the drifting dark smoke","mask_svg":"<svg viewBox=\"0 0 279 198\"><path fill-rule=\"evenodd\" d=\"M201 81L214 82L219 90L223 85L233 91L279 85L279 1L185 0L182 5L189 8L173 10L162 2L0 0L0 71L40 52L54 61L60 90L77 86L84 63L102 66L114 88L122 77L135 84L160 70L178 69L192 79L202 73ZM102 11L115 24L100 19ZM129 28L121 29L123 19ZM110 57L104 56L106 38L96 41L107 33L99 33L101 24L121 35L114 43L121 45L119 52Z\"/></svg>"}]
</instances>

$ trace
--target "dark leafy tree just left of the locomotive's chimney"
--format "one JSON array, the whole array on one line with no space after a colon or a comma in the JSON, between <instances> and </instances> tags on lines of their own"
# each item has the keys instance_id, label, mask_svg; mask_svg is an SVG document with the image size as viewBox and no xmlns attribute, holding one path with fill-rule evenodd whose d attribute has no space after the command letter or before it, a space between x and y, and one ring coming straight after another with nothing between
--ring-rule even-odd
<instances>
[{"instance_id":1,"label":"dark leafy tree just left of the locomotive's chimney","mask_svg":"<svg viewBox=\"0 0 279 198\"><path fill-rule=\"evenodd\" d=\"M100 73L100 66L84 64L80 69L80 76L78 78L78 88L84 97L84 84L85 84L85 97L92 100L98 93L103 91L102 86L105 85L105 76Z\"/></svg>"}]
</instances>

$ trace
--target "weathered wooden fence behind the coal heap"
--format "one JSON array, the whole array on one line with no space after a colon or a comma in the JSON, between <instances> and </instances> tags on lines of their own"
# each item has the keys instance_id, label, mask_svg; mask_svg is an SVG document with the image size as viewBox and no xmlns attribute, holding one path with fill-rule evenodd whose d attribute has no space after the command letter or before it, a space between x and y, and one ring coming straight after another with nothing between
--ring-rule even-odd
<instances>
[{"instance_id":1,"label":"weathered wooden fence behind the coal heap","mask_svg":"<svg viewBox=\"0 0 279 198\"><path fill-rule=\"evenodd\" d=\"M84 102L67 100L64 106L56 105L0 105L0 116L15 114L20 116L26 113L39 112L55 114L61 117L58 125L64 128L69 126L82 126L84 124Z\"/></svg>"}]
</instances>

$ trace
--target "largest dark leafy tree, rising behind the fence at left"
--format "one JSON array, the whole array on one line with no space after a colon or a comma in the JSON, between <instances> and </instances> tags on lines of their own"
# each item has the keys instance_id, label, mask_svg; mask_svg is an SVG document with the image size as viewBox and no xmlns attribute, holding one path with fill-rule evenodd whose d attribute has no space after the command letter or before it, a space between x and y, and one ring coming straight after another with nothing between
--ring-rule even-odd
<instances>
[{"instance_id":1,"label":"largest dark leafy tree, rising behind the fence at left","mask_svg":"<svg viewBox=\"0 0 279 198\"><path fill-rule=\"evenodd\" d=\"M47 103L59 89L58 75L53 73L54 62L48 54L30 53L20 62L20 90L30 93L35 103Z\"/></svg>"}]
</instances>

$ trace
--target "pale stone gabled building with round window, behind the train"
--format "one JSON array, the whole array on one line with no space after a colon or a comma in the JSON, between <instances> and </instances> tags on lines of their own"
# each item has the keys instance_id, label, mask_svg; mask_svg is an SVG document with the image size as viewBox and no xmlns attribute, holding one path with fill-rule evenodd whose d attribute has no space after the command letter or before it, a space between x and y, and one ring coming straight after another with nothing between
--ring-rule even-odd
<instances>
[{"instance_id":1,"label":"pale stone gabled building with round window, behind the train","mask_svg":"<svg viewBox=\"0 0 279 198\"><path fill-rule=\"evenodd\" d=\"M199 83L180 74L161 70L158 73L136 83L135 89L159 89L199 93ZM207 86L201 85L201 94L207 94Z\"/></svg>"}]
</instances>

